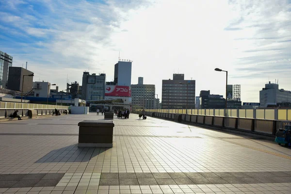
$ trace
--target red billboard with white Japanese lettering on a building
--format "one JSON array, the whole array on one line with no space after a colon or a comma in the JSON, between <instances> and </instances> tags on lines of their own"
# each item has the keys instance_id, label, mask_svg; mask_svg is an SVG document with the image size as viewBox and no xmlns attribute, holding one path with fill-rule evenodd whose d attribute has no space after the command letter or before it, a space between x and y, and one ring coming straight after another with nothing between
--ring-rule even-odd
<instances>
[{"instance_id":1,"label":"red billboard with white Japanese lettering on a building","mask_svg":"<svg viewBox=\"0 0 291 194\"><path fill-rule=\"evenodd\" d=\"M121 85L106 85L105 96L107 97L131 97L131 87Z\"/></svg>"}]
</instances>

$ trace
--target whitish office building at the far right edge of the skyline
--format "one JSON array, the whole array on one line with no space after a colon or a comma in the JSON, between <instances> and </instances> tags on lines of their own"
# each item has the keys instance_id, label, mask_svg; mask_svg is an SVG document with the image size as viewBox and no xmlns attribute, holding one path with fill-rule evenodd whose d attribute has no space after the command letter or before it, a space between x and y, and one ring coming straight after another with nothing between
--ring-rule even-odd
<instances>
[{"instance_id":1,"label":"whitish office building at the far right edge of the skyline","mask_svg":"<svg viewBox=\"0 0 291 194\"><path fill-rule=\"evenodd\" d=\"M267 107L268 104L290 103L291 91L279 89L276 83L265 84L265 87L259 91L259 103L261 107Z\"/></svg>"}]
</instances>

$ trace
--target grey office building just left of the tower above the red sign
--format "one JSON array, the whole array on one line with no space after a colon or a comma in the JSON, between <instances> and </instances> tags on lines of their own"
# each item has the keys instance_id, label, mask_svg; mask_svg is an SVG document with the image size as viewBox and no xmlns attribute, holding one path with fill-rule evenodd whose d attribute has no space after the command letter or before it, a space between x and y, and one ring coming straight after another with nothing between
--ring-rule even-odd
<instances>
[{"instance_id":1,"label":"grey office building just left of the tower above the red sign","mask_svg":"<svg viewBox=\"0 0 291 194\"><path fill-rule=\"evenodd\" d=\"M90 75L89 72L83 72L82 99L86 101L105 99L105 83L106 74Z\"/></svg>"}]
</instances>

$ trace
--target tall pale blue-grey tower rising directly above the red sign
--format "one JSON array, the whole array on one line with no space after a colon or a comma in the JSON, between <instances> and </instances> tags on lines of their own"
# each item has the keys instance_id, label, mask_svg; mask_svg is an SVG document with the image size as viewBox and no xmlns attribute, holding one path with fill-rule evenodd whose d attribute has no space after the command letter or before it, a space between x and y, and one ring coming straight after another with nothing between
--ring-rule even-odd
<instances>
[{"instance_id":1,"label":"tall pale blue-grey tower rising directly above the red sign","mask_svg":"<svg viewBox=\"0 0 291 194\"><path fill-rule=\"evenodd\" d=\"M130 60L118 61L114 66L114 83L115 85L131 85L131 64Z\"/></svg>"}]
</instances>

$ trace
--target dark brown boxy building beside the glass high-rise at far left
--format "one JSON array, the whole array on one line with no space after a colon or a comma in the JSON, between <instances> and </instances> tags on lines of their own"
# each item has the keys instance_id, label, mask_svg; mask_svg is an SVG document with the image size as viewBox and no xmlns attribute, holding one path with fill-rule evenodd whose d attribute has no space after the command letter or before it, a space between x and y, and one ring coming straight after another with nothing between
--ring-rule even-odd
<instances>
[{"instance_id":1,"label":"dark brown boxy building beside the glass high-rise at far left","mask_svg":"<svg viewBox=\"0 0 291 194\"><path fill-rule=\"evenodd\" d=\"M7 89L21 91L22 81L23 82L23 92L29 92L32 90L33 86L33 76L28 76L33 74L33 72L24 69L22 67L9 67Z\"/></svg>"}]
</instances>

